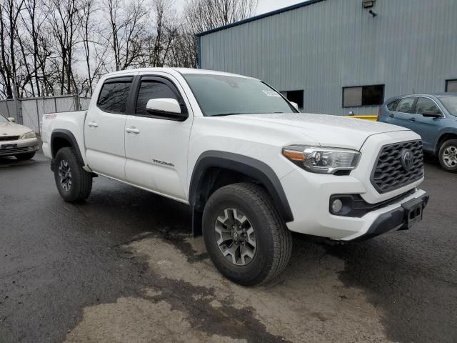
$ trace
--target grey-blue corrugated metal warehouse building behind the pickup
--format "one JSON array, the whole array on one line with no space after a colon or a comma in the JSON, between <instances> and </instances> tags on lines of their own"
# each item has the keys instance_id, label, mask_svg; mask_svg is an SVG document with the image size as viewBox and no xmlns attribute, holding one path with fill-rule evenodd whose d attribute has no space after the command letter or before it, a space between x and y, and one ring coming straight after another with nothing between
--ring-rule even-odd
<instances>
[{"instance_id":1,"label":"grey-blue corrugated metal warehouse building behind the pickup","mask_svg":"<svg viewBox=\"0 0 457 343\"><path fill-rule=\"evenodd\" d=\"M310 0L197 36L200 68L262 79L307 112L457 91L457 0Z\"/></svg>"}]
</instances>

